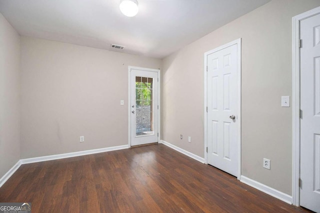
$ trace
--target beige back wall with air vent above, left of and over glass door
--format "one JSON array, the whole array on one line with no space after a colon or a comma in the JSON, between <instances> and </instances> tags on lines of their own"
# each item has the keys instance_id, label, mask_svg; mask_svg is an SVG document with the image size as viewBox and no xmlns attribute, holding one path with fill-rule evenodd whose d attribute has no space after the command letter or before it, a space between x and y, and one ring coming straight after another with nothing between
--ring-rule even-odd
<instances>
[{"instance_id":1,"label":"beige back wall with air vent above, left of and over glass door","mask_svg":"<svg viewBox=\"0 0 320 213\"><path fill-rule=\"evenodd\" d=\"M127 144L128 65L161 60L21 36L21 158Z\"/></svg>"}]
</instances>

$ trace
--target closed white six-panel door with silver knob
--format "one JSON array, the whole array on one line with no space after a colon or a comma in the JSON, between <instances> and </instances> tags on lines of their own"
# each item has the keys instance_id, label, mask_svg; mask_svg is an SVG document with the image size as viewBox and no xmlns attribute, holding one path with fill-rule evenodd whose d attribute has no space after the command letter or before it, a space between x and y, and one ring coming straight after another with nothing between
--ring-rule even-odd
<instances>
[{"instance_id":1,"label":"closed white six-panel door with silver knob","mask_svg":"<svg viewBox=\"0 0 320 213\"><path fill-rule=\"evenodd\" d=\"M206 61L207 162L237 176L237 44L208 54Z\"/></svg>"}]
</instances>

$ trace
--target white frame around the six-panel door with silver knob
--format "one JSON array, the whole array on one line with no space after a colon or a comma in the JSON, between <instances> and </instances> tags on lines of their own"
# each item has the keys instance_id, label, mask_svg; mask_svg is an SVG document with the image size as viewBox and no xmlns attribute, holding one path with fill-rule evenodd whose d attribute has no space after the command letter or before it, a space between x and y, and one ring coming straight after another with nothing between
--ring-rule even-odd
<instances>
[{"instance_id":1,"label":"white frame around the six-panel door with silver knob","mask_svg":"<svg viewBox=\"0 0 320 213\"><path fill-rule=\"evenodd\" d=\"M212 50L204 52L204 163L208 164L207 147L207 56L213 52L237 44L237 152L238 152L238 171L237 179L241 176L241 38L228 42Z\"/></svg>"}]
</instances>

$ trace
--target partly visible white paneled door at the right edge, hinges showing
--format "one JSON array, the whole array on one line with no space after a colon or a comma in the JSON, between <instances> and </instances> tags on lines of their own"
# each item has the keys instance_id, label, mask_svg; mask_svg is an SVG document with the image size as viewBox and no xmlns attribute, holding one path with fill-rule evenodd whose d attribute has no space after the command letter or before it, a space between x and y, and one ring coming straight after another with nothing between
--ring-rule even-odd
<instances>
[{"instance_id":1,"label":"partly visible white paneled door at the right edge, hinges showing","mask_svg":"<svg viewBox=\"0 0 320 213\"><path fill-rule=\"evenodd\" d=\"M320 212L320 14L300 22L300 205Z\"/></svg>"}]
</instances>

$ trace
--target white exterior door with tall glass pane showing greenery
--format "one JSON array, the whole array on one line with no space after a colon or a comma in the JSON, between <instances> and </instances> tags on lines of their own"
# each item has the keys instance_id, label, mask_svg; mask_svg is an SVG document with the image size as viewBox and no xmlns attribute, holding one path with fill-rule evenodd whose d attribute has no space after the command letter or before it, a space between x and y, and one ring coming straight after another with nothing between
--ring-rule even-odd
<instances>
[{"instance_id":1,"label":"white exterior door with tall glass pane showing greenery","mask_svg":"<svg viewBox=\"0 0 320 213\"><path fill-rule=\"evenodd\" d=\"M130 145L158 142L158 71L130 70Z\"/></svg>"}]
</instances>

